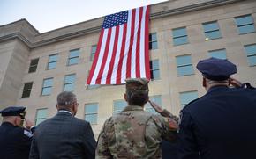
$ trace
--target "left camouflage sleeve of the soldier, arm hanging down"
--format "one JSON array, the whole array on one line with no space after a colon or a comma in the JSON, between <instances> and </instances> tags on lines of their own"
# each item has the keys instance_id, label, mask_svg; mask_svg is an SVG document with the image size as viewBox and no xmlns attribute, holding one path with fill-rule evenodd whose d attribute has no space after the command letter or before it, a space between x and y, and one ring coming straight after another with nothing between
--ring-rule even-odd
<instances>
[{"instance_id":1,"label":"left camouflage sleeve of the soldier, arm hanging down","mask_svg":"<svg viewBox=\"0 0 256 159\"><path fill-rule=\"evenodd\" d=\"M102 131L99 134L99 138L97 141L97 148L96 148L96 159L108 159L113 158L110 151L109 151L109 137L108 137L108 128L110 124L110 119L107 119L102 127Z\"/></svg>"}]
</instances>

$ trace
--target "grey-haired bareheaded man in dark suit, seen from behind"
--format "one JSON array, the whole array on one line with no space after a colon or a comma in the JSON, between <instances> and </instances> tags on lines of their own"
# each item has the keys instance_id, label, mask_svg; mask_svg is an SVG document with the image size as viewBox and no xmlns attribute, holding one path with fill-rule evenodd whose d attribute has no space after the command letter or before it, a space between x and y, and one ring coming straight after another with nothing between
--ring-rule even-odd
<instances>
[{"instance_id":1,"label":"grey-haired bareheaded man in dark suit, seen from behind","mask_svg":"<svg viewBox=\"0 0 256 159\"><path fill-rule=\"evenodd\" d=\"M90 124L74 116L77 98L64 91L57 96L55 117L47 119L34 132L29 158L94 158L96 141Z\"/></svg>"}]
</instances>

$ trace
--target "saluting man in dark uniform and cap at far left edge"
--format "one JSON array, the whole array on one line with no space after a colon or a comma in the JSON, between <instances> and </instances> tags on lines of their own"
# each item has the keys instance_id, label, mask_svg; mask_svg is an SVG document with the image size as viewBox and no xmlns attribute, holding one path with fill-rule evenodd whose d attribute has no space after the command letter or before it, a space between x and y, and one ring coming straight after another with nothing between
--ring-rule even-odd
<instances>
[{"instance_id":1,"label":"saluting man in dark uniform and cap at far left edge","mask_svg":"<svg viewBox=\"0 0 256 159\"><path fill-rule=\"evenodd\" d=\"M11 106L0 111L3 123L0 126L0 158L27 159L29 155L32 122L25 119L25 107ZM26 121L26 128L20 126Z\"/></svg>"}]
</instances>

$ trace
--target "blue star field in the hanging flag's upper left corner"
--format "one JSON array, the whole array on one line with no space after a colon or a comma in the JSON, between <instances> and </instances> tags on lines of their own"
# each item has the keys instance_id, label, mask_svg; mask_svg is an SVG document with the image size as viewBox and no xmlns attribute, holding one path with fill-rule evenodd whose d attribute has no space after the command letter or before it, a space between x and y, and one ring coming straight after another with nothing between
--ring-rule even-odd
<instances>
[{"instance_id":1,"label":"blue star field in the hanging flag's upper left corner","mask_svg":"<svg viewBox=\"0 0 256 159\"><path fill-rule=\"evenodd\" d=\"M113 26L123 25L127 23L128 11L122 11L115 14L110 14L106 16L102 25L102 28L108 29Z\"/></svg>"}]
</instances>

